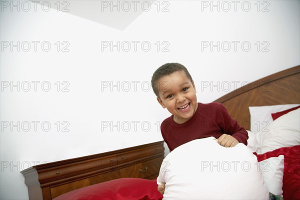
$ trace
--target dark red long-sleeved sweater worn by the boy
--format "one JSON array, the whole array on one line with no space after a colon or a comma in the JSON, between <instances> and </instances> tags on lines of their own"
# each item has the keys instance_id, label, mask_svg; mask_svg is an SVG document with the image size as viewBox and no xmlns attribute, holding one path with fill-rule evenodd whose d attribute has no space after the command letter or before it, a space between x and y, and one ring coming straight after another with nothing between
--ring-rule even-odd
<instances>
[{"instance_id":1,"label":"dark red long-sleeved sweater worn by the boy","mask_svg":"<svg viewBox=\"0 0 300 200\"><path fill-rule=\"evenodd\" d=\"M170 151L188 141L210 136L218 138L223 133L232 135L245 145L248 139L247 131L218 102L198 103L194 115L181 124L176 123L171 115L162 121L160 130Z\"/></svg>"}]
</instances>

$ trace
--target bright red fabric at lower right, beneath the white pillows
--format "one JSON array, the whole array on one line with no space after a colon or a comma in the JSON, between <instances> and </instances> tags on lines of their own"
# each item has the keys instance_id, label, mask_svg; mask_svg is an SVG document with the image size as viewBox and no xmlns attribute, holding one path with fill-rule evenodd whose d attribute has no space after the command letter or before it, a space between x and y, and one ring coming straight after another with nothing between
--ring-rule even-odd
<instances>
[{"instance_id":1,"label":"bright red fabric at lower right, beneath the white pillows","mask_svg":"<svg viewBox=\"0 0 300 200\"><path fill-rule=\"evenodd\" d=\"M257 161L284 155L283 199L300 199L300 145L282 147L256 155Z\"/></svg>"}]
</instances>

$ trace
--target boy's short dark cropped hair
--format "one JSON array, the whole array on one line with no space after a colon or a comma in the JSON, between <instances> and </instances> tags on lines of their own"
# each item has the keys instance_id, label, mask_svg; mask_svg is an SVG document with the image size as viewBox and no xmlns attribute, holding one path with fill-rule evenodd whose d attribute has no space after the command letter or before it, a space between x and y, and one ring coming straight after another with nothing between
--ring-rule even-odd
<instances>
[{"instance_id":1,"label":"boy's short dark cropped hair","mask_svg":"<svg viewBox=\"0 0 300 200\"><path fill-rule=\"evenodd\" d=\"M158 67L153 75L152 75L152 79L151 79L151 86L152 86L152 89L155 93L155 95L157 97L159 97L159 94L158 94L158 85L157 85L157 82L158 80L165 76L165 75L169 75L175 71L184 71L184 73L186 74L187 78L193 82L192 78L191 78L191 75L189 74L188 70L186 69L185 66L183 66L182 64L180 63L177 63L177 62L171 62L171 63L165 63L163 65L161 65L160 67Z\"/></svg>"}]
</instances>

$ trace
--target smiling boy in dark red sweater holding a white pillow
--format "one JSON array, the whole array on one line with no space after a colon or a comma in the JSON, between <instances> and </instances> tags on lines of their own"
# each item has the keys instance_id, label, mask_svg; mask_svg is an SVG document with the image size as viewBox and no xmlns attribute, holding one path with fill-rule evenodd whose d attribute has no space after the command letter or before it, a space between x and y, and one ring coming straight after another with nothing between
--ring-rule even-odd
<instances>
[{"instance_id":1,"label":"smiling boy in dark red sweater holding a white pillow","mask_svg":"<svg viewBox=\"0 0 300 200\"><path fill-rule=\"evenodd\" d=\"M225 147L239 142L247 145L246 130L218 103L197 103L191 75L179 63L166 63L155 70L151 85L157 101L172 114L160 125L161 135L170 151L188 141L214 136ZM158 185L163 194L165 183Z\"/></svg>"}]
</instances>

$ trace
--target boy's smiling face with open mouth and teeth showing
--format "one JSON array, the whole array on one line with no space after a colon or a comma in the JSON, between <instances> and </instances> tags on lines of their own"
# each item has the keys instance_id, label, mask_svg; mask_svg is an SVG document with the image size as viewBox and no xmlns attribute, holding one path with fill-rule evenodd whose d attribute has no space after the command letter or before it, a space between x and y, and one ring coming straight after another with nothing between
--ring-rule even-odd
<instances>
[{"instance_id":1,"label":"boy's smiling face with open mouth and teeth showing","mask_svg":"<svg viewBox=\"0 0 300 200\"><path fill-rule=\"evenodd\" d=\"M184 71L161 77L157 83L159 104L173 114L176 123L190 119L197 109L196 88Z\"/></svg>"}]
</instances>

